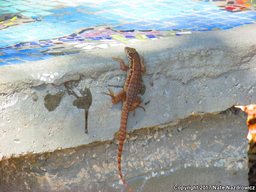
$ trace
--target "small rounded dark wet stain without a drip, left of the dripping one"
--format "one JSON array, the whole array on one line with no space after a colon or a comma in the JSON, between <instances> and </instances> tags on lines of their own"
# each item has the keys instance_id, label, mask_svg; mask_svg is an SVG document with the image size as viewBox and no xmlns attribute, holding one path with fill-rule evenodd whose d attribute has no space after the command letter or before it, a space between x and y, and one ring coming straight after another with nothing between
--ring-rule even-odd
<instances>
[{"instance_id":1,"label":"small rounded dark wet stain without a drip, left of the dripping one","mask_svg":"<svg viewBox=\"0 0 256 192\"><path fill-rule=\"evenodd\" d=\"M58 92L55 95L51 93L44 96L44 106L48 111L54 111L59 105L65 92Z\"/></svg>"}]
</instances>

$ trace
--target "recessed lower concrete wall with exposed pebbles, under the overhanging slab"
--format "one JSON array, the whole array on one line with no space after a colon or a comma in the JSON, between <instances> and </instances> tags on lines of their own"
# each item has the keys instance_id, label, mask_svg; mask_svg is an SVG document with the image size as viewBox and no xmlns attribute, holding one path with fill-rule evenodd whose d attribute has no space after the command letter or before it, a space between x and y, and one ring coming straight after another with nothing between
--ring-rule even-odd
<instances>
[{"instance_id":1,"label":"recessed lower concrete wall with exposed pebbles, under the overhanging slab","mask_svg":"<svg viewBox=\"0 0 256 192\"><path fill-rule=\"evenodd\" d=\"M248 186L245 121L244 112L231 108L128 133L124 179L134 192L180 191L175 185ZM0 191L128 191L118 175L117 150L114 139L1 161Z\"/></svg>"}]
</instances>

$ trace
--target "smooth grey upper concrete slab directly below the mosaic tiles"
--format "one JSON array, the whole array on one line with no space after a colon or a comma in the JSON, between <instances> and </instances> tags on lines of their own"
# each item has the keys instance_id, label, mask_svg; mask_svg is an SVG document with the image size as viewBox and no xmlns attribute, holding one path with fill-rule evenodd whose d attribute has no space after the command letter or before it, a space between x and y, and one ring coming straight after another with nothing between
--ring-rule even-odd
<instances>
[{"instance_id":1,"label":"smooth grey upper concrete slab directly below the mosaic tiles","mask_svg":"<svg viewBox=\"0 0 256 192\"><path fill-rule=\"evenodd\" d=\"M225 31L134 43L145 57L142 95L146 112L128 117L128 130L176 124L190 114L225 110L256 99L256 25ZM243 36L243 38L241 38ZM101 94L118 92L125 72L112 56L123 47L2 66L0 71L0 158L43 153L113 139L121 104ZM88 93L88 94L87 94ZM88 134L84 108L89 108ZM168 124L167 124L168 125Z\"/></svg>"}]
</instances>

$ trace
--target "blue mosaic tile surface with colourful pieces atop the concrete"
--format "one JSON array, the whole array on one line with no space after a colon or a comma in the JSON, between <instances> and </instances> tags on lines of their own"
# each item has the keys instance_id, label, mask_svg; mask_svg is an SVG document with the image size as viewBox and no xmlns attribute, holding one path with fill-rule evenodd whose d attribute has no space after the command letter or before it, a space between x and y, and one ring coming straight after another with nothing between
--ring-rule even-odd
<instances>
[{"instance_id":1,"label":"blue mosaic tile surface with colourful pieces atop the concrete","mask_svg":"<svg viewBox=\"0 0 256 192\"><path fill-rule=\"evenodd\" d=\"M255 22L256 0L0 0L0 66Z\"/></svg>"}]
</instances>

